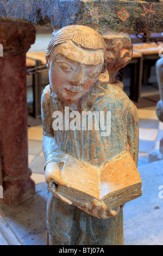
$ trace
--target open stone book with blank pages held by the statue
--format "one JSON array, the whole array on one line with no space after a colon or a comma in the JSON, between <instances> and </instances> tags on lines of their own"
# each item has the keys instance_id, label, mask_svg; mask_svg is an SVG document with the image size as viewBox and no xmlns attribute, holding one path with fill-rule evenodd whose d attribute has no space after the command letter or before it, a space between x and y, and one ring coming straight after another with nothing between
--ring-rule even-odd
<instances>
[{"instance_id":1,"label":"open stone book with blank pages held by the statue","mask_svg":"<svg viewBox=\"0 0 163 256\"><path fill-rule=\"evenodd\" d=\"M101 167L67 155L62 173L68 186L58 186L56 194L77 206L85 203L92 205L98 199L110 210L142 194L141 178L128 151L112 158Z\"/></svg>"}]
</instances>

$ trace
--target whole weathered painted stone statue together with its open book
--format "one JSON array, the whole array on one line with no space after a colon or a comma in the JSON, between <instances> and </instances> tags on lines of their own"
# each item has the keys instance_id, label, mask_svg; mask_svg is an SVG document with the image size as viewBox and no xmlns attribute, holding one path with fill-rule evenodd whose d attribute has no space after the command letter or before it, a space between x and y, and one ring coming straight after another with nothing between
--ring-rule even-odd
<instances>
[{"instance_id":1,"label":"whole weathered painted stone statue together with its open book","mask_svg":"<svg viewBox=\"0 0 163 256\"><path fill-rule=\"evenodd\" d=\"M123 52L124 49L116 50ZM128 56L127 51L124 53ZM130 200L134 193L141 195L139 174L135 178L127 174L127 169L134 174L137 164L137 109L121 88L98 80L99 74L105 74L109 58L103 37L86 26L60 29L47 47L50 84L42 93L41 113L45 178L49 189L48 245L122 245L122 207L128 202L126 192ZM114 54L112 59L116 59ZM85 112L107 115L105 128L104 120L100 128L94 121L89 125L92 118L89 115L88 120L84 120ZM78 117L75 127L72 127L73 113ZM64 119L58 121L55 114ZM123 155L126 150L129 152ZM111 161L114 167L110 166ZM130 186L129 181L133 181L134 186ZM109 193L114 205L108 205Z\"/></svg>"}]
</instances>

